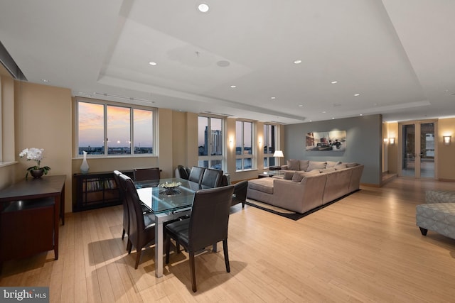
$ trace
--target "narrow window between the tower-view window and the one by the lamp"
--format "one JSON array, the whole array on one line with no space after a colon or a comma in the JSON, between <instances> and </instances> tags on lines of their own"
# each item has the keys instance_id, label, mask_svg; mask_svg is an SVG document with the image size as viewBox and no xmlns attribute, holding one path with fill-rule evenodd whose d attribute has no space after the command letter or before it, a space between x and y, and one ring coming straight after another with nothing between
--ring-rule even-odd
<instances>
[{"instance_id":1,"label":"narrow window between the tower-view window and the one by the lamp","mask_svg":"<svg viewBox=\"0 0 455 303\"><path fill-rule=\"evenodd\" d=\"M253 165L253 124L235 122L235 170L251 170Z\"/></svg>"}]
</instances>

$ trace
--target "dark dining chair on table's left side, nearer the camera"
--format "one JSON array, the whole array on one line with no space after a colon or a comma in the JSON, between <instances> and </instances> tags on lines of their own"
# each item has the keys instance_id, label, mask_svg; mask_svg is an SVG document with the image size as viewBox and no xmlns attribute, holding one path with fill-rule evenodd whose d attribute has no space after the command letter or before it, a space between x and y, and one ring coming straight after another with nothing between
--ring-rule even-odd
<instances>
[{"instance_id":1,"label":"dark dining chair on table's left side, nearer the camera","mask_svg":"<svg viewBox=\"0 0 455 303\"><path fill-rule=\"evenodd\" d=\"M125 190L129 209L128 253L131 253L132 246L136 248L137 255L134 269L137 269L141 259L142 248L155 239L155 222L153 216L142 213L141 200L137 194L136 187L134 187L133 180L126 175L119 175L119 181Z\"/></svg>"}]
</instances>

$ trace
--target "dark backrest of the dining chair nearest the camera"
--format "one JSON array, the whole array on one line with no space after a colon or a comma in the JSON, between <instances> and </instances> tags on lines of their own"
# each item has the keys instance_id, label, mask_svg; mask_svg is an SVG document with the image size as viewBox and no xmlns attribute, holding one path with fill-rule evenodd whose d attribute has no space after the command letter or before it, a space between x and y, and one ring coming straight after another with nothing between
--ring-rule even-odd
<instances>
[{"instance_id":1,"label":"dark backrest of the dining chair nearest the camera","mask_svg":"<svg viewBox=\"0 0 455 303\"><path fill-rule=\"evenodd\" d=\"M233 192L233 185L196 192L189 219L188 250L199 250L228 238Z\"/></svg>"}]
</instances>

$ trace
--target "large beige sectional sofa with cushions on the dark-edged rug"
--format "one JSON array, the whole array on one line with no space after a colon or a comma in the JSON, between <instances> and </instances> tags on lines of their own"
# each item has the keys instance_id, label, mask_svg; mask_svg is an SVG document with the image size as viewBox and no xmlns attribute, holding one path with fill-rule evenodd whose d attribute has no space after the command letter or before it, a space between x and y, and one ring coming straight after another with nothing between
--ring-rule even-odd
<instances>
[{"instance_id":1,"label":"large beige sectional sofa with cushions on the dark-edged rug","mask_svg":"<svg viewBox=\"0 0 455 303\"><path fill-rule=\"evenodd\" d=\"M363 165L289 160L282 174L248 181L247 198L303 214L360 187Z\"/></svg>"}]
</instances>

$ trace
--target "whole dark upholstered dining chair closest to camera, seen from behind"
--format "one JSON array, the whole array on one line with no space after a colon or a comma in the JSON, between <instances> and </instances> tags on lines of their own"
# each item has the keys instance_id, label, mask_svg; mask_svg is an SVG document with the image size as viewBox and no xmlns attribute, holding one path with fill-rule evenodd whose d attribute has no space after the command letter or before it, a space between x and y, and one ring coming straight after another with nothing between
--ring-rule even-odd
<instances>
[{"instance_id":1,"label":"whole dark upholstered dining chair closest to camera, seen from behind","mask_svg":"<svg viewBox=\"0 0 455 303\"><path fill-rule=\"evenodd\" d=\"M198 190L194 196L191 217L167 224L164 228L166 233L166 264L169 263L170 240L173 238L188 250L193 292L197 290L194 255L199 250L223 241L226 271L230 272L228 223L233 192L233 185Z\"/></svg>"}]
</instances>

